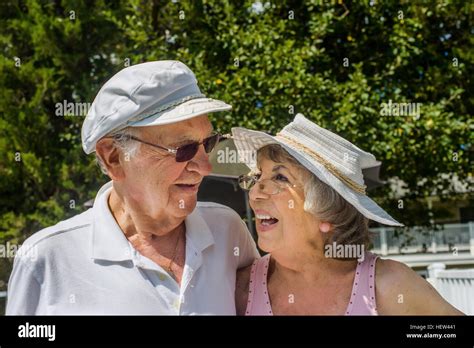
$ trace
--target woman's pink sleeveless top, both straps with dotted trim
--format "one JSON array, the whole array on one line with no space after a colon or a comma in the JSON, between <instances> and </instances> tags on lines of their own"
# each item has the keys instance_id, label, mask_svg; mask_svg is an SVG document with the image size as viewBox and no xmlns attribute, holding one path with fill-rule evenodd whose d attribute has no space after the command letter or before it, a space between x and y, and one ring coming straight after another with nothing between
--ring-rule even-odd
<instances>
[{"instance_id":1,"label":"woman's pink sleeveless top, both straps with dotted trim","mask_svg":"<svg viewBox=\"0 0 474 348\"><path fill-rule=\"evenodd\" d=\"M346 315L377 315L375 302L375 261L377 255L365 253L364 261L357 263L352 294ZM245 315L273 315L268 296L267 272L270 254L256 259L250 270L249 296Z\"/></svg>"}]
</instances>

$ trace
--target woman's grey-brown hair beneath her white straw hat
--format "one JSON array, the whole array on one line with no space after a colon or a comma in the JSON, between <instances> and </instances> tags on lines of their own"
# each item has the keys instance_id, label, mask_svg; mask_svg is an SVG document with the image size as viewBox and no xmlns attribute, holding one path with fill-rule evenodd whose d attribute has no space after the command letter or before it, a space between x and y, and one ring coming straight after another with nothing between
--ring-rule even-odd
<instances>
[{"instance_id":1,"label":"woman's grey-brown hair beneath her white straw hat","mask_svg":"<svg viewBox=\"0 0 474 348\"><path fill-rule=\"evenodd\" d=\"M271 144L258 150L257 158L271 159L274 162L289 162L298 167L304 177L304 210L318 220L329 222L333 226L331 237L326 243L343 245L359 244L364 249L370 243L369 219L353 205L313 173L295 160L284 148Z\"/></svg>"}]
</instances>

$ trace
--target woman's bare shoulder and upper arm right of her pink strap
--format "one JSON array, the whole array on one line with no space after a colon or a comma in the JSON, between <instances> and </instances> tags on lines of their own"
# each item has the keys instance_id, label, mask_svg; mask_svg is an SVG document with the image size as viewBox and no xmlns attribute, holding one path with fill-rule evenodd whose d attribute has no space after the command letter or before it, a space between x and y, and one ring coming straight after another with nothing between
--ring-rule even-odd
<instances>
[{"instance_id":1,"label":"woman's bare shoulder and upper arm right of her pink strap","mask_svg":"<svg viewBox=\"0 0 474 348\"><path fill-rule=\"evenodd\" d=\"M403 263L377 260L375 290L381 315L463 315Z\"/></svg>"}]
</instances>

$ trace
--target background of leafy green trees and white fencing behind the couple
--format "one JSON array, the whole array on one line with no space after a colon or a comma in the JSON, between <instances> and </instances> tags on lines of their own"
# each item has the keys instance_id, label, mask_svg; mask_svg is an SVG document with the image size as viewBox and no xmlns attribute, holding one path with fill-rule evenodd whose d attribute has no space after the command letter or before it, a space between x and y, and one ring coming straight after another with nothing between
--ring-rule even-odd
<instances>
[{"instance_id":1,"label":"background of leafy green trees and white fencing behind the couple","mask_svg":"<svg viewBox=\"0 0 474 348\"><path fill-rule=\"evenodd\" d=\"M461 0L0 2L0 313L15 247L107 181L81 149L88 103L126 66L177 59L233 105L211 115L222 133L301 112L372 152L369 194L407 225L373 225L372 249L474 314L473 14ZM199 195L252 229L232 173Z\"/></svg>"}]
</instances>

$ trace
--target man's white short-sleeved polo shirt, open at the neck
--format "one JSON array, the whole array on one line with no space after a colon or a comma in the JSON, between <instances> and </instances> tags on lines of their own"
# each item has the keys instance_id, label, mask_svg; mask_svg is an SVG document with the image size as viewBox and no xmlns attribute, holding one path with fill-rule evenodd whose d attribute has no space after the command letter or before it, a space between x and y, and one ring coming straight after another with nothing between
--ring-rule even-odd
<instances>
[{"instance_id":1,"label":"man's white short-sleeved polo shirt, open at the neck","mask_svg":"<svg viewBox=\"0 0 474 348\"><path fill-rule=\"evenodd\" d=\"M125 238L108 207L111 183L86 212L32 235L15 258L7 315L235 314L235 275L259 257L240 217L198 202L186 218L179 286Z\"/></svg>"}]
</instances>

